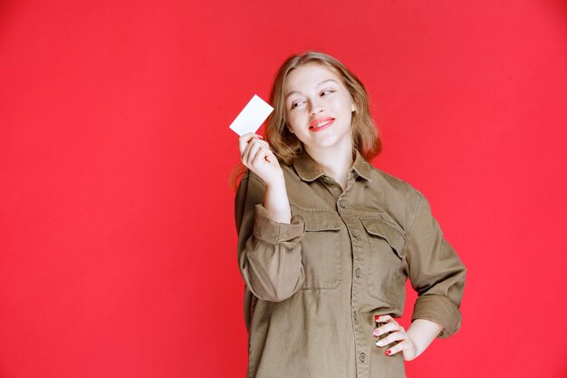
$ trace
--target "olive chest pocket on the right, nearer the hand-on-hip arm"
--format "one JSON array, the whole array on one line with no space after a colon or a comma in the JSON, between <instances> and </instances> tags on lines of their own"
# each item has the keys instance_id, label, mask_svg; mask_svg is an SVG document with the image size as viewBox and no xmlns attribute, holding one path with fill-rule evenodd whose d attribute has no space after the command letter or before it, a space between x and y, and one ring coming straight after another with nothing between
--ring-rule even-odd
<instances>
[{"instance_id":1,"label":"olive chest pocket on the right, nearer the hand-on-hip arm","mask_svg":"<svg viewBox=\"0 0 567 378\"><path fill-rule=\"evenodd\" d=\"M370 259L367 290L389 305L403 306L406 297L404 234L381 218L360 218L368 232Z\"/></svg>"}]
</instances>

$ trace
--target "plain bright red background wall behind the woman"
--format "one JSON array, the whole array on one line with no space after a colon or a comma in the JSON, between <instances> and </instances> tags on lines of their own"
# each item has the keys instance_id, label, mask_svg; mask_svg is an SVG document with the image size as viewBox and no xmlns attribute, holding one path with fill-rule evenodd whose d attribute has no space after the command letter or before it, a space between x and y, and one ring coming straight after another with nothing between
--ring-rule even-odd
<instances>
[{"instance_id":1,"label":"plain bright red background wall behind the woman","mask_svg":"<svg viewBox=\"0 0 567 378\"><path fill-rule=\"evenodd\" d=\"M245 376L228 125L307 49L468 268L408 376L566 376L565 1L5 0L0 377Z\"/></svg>"}]
</instances>

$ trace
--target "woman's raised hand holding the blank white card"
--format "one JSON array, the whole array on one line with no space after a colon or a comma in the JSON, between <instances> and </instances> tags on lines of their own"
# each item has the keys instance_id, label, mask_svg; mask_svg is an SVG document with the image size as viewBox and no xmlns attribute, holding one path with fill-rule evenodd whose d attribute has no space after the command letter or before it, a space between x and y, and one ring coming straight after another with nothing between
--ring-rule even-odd
<instances>
[{"instance_id":1,"label":"woman's raised hand holding the blank white card","mask_svg":"<svg viewBox=\"0 0 567 378\"><path fill-rule=\"evenodd\" d=\"M248 132L239 139L240 157L246 168L264 180L267 186L281 186L283 171L270 145L262 136Z\"/></svg>"}]
</instances>

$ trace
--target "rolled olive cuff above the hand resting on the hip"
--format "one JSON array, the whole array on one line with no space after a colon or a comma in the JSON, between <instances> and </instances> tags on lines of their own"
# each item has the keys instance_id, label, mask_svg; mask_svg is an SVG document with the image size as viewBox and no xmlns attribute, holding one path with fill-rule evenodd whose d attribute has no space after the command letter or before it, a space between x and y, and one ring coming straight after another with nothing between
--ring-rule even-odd
<instances>
[{"instance_id":1,"label":"rolled olive cuff above the hand resting on the hip","mask_svg":"<svg viewBox=\"0 0 567 378\"><path fill-rule=\"evenodd\" d=\"M443 326L437 335L441 339L455 334L461 326L461 312L446 296L419 296L411 315L412 322L416 319L426 319Z\"/></svg>"}]
</instances>

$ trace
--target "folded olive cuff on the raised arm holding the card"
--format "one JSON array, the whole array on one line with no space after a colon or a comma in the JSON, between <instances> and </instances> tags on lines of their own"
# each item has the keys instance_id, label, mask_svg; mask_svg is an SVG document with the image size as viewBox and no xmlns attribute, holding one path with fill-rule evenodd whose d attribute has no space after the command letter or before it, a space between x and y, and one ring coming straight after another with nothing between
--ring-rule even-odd
<instances>
[{"instance_id":1,"label":"folded olive cuff on the raised arm holding the card","mask_svg":"<svg viewBox=\"0 0 567 378\"><path fill-rule=\"evenodd\" d=\"M294 215L290 224L274 222L262 204L255 205L254 235L270 244L288 243L294 247L305 233L305 222Z\"/></svg>"}]
</instances>

